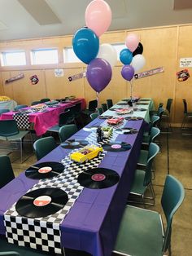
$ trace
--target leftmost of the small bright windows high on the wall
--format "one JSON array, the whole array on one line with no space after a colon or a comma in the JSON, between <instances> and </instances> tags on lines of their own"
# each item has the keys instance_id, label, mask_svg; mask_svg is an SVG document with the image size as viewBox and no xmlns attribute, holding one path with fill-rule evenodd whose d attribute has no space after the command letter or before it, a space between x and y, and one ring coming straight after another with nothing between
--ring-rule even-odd
<instances>
[{"instance_id":1,"label":"leftmost of the small bright windows high on the wall","mask_svg":"<svg viewBox=\"0 0 192 256\"><path fill-rule=\"evenodd\" d=\"M1 54L2 66L26 65L24 51L4 51Z\"/></svg>"}]
</instances>

